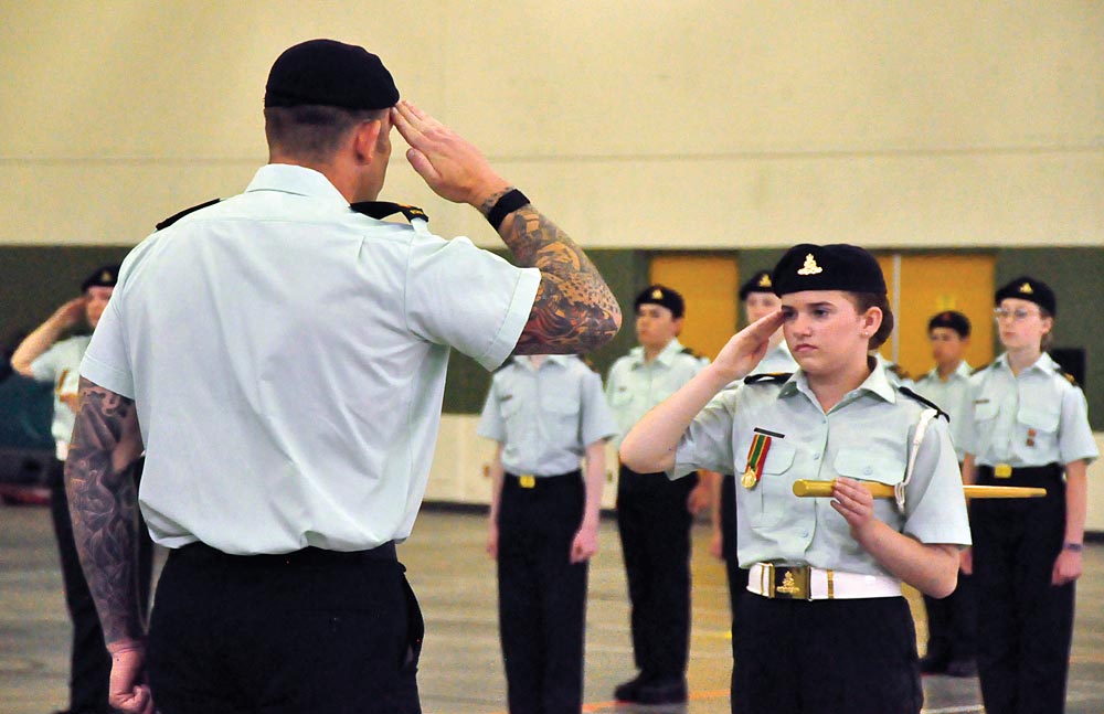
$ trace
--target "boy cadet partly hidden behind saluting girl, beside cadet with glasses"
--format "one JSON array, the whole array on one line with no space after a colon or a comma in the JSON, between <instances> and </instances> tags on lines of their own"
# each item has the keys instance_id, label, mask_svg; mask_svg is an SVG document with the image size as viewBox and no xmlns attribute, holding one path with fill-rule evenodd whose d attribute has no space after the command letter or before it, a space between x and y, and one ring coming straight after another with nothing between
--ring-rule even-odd
<instances>
[{"instance_id":1,"label":"boy cadet partly hidden behind saluting girl, beside cadet with glasses","mask_svg":"<svg viewBox=\"0 0 1104 714\"><path fill-rule=\"evenodd\" d=\"M969 376L974 373L966 363L970 323L962 312L945 310L927 323L927 339L932 344L935 366L916 382L916 392L951 415L951 436L958 462L964 451L962 433L970 418ZM977 647L977 597L972 576L959 572L958 587L948 597L936 599L924 596L927 609L927 653L920 660L925 674L974 676Z\"/></svg>"}]
</instances>

